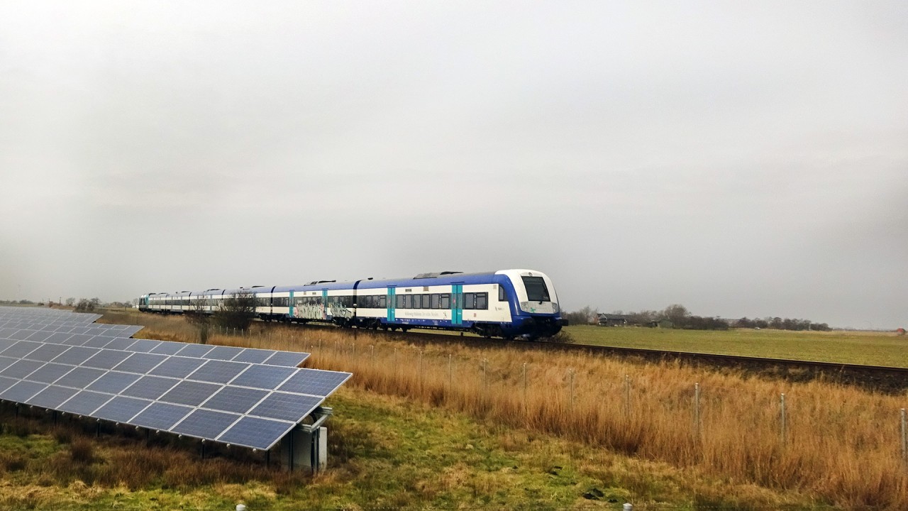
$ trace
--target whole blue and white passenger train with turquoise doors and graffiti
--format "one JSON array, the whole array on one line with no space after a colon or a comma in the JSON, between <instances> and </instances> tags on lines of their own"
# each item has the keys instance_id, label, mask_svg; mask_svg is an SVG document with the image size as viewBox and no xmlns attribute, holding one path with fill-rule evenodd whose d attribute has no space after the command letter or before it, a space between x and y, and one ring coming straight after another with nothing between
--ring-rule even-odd
<instances>
[{"instance_id":1,"label":"whole blue and white passenger train with turquoise doors and graffiti","mask_svg":"<svg viewBox=\"0 0 908 511\"><path fill-rule=\"evenodd\" d=\"M150 293L139 299L139 309L212 314L223 300L241 293L254 295L255 315L265 321L402 331L436 328L505 338L553 336L566 324L551 279L538 271L520 269Z\"/></svg>"}]
</instances>

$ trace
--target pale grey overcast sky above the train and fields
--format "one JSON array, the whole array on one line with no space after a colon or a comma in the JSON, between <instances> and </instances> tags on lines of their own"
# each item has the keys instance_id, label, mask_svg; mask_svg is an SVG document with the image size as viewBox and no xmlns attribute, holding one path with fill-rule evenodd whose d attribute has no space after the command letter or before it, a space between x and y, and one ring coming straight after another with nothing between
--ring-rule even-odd
<instances>
[{"instance_id":1,"label":"pale grey overcast sky above the train and fields","mask_svg":"<svg viewBox=\"0 0 908 511\"><path fill-rule=\"evenodd\" d=\"M908 326L908 2L0 0L0 299L514 267Z\"/></svg>"}]
</instances>

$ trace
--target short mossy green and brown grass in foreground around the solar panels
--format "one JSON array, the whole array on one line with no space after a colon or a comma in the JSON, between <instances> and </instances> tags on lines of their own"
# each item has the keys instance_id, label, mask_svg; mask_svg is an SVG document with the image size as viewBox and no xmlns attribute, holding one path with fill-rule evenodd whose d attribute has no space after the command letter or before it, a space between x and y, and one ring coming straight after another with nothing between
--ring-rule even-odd
<instances>
[{"instance_id":1,"label":"short mossy green and brown grass in foreground around the solar panels","mask_svg":"<svg viewBox=\"0 0 908 511\"><path fill-rule=\"evenodd\" d=\"M287 476L122 434L0 417L7 509L830 509L796 491L620 456L557 436L344 388L330 469ZM90 428L89 428L90 429ZM78 430L78 428L76 428ZM86 455L85 453L90 453Z\"/></svg>"}]
</instances>

